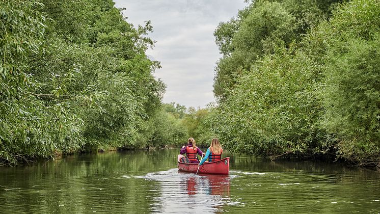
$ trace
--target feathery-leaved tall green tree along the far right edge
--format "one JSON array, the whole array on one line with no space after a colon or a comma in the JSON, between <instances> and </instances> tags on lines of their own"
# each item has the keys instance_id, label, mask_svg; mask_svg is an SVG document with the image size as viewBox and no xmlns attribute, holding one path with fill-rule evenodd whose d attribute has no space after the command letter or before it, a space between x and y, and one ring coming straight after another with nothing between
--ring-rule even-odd
<instances>
[{"instance_id":1,"label":"feathery-leaved tall green tree along the far right edge","mask_svg":"<svg viewBox=\"0 0 380 214\"><path fill-rule=\"evenodd\" d=\"M351 1L333 14L317 34L326 38L322 124L335 136L339 156L379 167L380 3Z\"/></svg>"}]
</instances>

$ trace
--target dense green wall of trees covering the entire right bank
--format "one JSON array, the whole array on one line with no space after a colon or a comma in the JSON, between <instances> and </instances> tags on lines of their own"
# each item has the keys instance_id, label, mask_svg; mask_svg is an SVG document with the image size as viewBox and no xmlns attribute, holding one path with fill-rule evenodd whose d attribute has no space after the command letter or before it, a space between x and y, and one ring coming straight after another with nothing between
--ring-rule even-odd
<instances>
[{"instance_id":1,"label":"dense green wall of trees covering the entire right bank","mask_svg":"<svg viewBox=\"0 0 380 214\"><path fill-rule=\"evenodd\" d=\"M255 1L214 35L224 146L380 167L378 1Z\"/></svg>"}]
</instances>

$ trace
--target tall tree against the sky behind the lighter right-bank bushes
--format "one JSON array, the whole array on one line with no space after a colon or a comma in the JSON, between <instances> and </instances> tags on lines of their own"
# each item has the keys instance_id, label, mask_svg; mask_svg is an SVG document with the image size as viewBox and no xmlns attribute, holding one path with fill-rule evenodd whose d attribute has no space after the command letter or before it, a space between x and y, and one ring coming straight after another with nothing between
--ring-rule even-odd
<instances>
[{"instance_id":1,"label":"tall tree against the sky behind the lighter right-bank bushes","mask_svg":"<svg viewBox=\"0 0 380 214\"><path fill-rule=\"evenodd\" d=\"M289 46L330 16L331 4L312 0L254 1L237 18L222 22L214 32L223 58L217 63L214 94L223 101L238 78L278 45Z\"/></svg>"}]
</instances>

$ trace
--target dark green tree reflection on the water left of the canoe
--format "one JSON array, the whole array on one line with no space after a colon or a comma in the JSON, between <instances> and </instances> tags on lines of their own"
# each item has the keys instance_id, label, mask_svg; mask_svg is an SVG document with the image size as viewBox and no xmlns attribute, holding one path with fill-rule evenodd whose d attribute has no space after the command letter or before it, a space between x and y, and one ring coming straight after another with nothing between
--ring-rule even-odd
<instances>
[{"instance_id":1,"label":"dark green tree reflection on the water left of the canoe","mask_svg":"<svg viewBox=\"0 0 380 214\"><path fill-rule=\"evenodd\" d=\"M14 190L0 194L4 205L0 210L5 213L147 212L159 192L151 191L155 182L133 176L140 169L144 173L156 169L149 158L153 156L151 153L141 150L68 155L56 161L2 168L0 184ZM170 162L160 164L165 167Z\"/></svg>"}]
</instances>

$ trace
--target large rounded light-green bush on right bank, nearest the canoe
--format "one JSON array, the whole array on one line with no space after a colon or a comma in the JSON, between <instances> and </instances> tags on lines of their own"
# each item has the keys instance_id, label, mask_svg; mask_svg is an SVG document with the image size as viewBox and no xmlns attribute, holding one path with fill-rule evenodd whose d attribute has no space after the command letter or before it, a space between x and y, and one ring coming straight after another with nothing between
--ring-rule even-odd
<instances>
[{"instance_id":1,"label":"large rounded light-green bush on right bank, nearest the canoe","mask_svg":"<svg viewBox=\"0 0 380 214\"><path fill-rule=\"evenodd\" d=\"M216 110L213 130L226 148L273 157L329 148L317 124L319 67L294 51L264 56Z\"/></svg>"}]
</instances>

